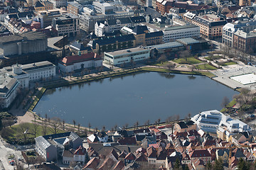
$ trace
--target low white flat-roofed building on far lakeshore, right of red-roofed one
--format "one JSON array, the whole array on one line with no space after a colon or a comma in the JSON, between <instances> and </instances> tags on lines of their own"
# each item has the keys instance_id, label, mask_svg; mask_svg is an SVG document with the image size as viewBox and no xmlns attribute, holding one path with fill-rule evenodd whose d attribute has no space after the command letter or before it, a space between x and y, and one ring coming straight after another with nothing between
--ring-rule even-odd
<instances>
[{"instance_id":1,"label":"low white flat-roofed building on far lakeshore, right of red-roofed one","mask_svg":"<svg viewBox=\"0 0 256 170\"><path fill-rule=\"evenodd\" d=\"M114 52L104 52L104 62L117 65L129 62L146 60L150 57L150 51L143 47L134 47L129 50L117 50Z\"/></svg>"}]
</instances>

